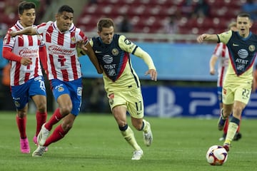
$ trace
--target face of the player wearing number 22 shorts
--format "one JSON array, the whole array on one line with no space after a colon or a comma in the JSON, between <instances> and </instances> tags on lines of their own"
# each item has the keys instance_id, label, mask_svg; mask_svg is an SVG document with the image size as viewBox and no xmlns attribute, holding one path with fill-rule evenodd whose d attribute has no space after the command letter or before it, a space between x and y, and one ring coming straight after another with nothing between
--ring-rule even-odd
<instances>
[{"instance_id":1,"label":"face of the player wearing number 22 shorts","mask_svg":"<svg viewBox=\"0 0 257 171\"><path fill-rule=\"evenodd\" d=\"M247 37L252 26L251 19L238 16L236 19L236 26L239 34L243 37Z\"/></svg>"}]
</instances>

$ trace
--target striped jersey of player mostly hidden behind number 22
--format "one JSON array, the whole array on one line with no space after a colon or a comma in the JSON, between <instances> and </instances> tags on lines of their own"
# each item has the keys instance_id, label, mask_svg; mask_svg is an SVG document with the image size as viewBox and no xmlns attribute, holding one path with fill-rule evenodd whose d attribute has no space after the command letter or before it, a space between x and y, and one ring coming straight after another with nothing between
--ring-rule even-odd
<instances>
[{"instance_id":1,"label":"striped jersey of player mostly hidden behind number 22","mask_svg":"<svg viewBox=\"0 0 257 171\"><path fill-rule=\"evenodd\" d=\"M228 68L228 60L229 60L229 53L228 53L228 48L226 47L226 44L218 43L213 52L213 55L218 56L219 63L218 63L217 86L222 87L223 80L225 78L226 71Z\"/></svg>"}]
</instances>

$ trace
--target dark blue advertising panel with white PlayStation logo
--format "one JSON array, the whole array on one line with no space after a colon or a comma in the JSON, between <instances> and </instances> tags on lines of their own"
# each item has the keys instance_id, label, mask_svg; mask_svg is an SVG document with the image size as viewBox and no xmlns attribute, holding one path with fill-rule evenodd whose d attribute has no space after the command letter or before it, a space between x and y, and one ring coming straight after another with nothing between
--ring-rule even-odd
<instances>
[{"instance_id":1,"label":"dark blue advertising panel with white PlayStation logo","mask_svg":"<svg viewBox=\"0 0 257 171\"><path fill-rule=\"evenodd\" d=\"M143 86L145 115L169 117L218 117L216 88ZM243 110L243 116L257 118L257 94Z\"/></svg>"}]
</instances>

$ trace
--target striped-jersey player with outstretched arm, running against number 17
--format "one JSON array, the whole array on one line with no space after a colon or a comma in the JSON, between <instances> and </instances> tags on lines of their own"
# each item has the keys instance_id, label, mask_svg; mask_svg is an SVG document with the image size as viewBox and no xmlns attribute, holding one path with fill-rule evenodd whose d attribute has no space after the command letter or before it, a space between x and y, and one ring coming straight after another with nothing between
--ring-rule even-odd
<instances>
[{"instance_id":1,"label":"striped-jersey player with outstretched arm, running against number 17","mask_svg":"<svg viewBox=\"0 0 257 171\"><path fill-rule=\"evenodd\" d=\"M96 70L98 73L102 72L88 38L80 28L74 26L73 19L74 10L64 5L59 8L56 21L48 21L34 28L25 28L12 33L13 36L21 33L43 36L47 52L47 74L54 97L59 104L54 115L42 126L38 136L39 147L32 156L43 155L47 146L64 138L74 124L76 116L79 115L82 81L77 43L80 48L81 42L84 43L83 47L88 49L87 54ZM62 123L50 135L53 125L62 118Z\"/></svg>"}]
</instances>

